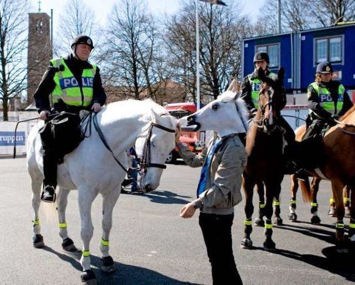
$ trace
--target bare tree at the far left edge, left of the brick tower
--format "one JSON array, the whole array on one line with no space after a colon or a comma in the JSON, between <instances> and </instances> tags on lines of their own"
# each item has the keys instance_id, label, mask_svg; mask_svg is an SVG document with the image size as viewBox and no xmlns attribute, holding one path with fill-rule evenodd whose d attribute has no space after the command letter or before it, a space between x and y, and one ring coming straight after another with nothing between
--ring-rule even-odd
<instances>
[{"instance_id":1,"label":"bare tree at the far left edge, left of the brick tower","mask_svg":"<svg viewBox=\"0 0 355 285\"><path fill-rule=\"evenodd\" d=\"M0 0L0 99L8 120L8 102L26 90L27 0Z\"/></svg>"}]
</instances>

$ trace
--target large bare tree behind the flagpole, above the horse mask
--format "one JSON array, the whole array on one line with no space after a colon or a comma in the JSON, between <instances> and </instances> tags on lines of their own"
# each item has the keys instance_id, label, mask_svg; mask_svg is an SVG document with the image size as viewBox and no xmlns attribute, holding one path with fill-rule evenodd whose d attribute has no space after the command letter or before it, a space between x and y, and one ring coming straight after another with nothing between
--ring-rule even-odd
<instances>
[{"instance_id":1,"label":"large bare tree behind the flagpole, above the horse mask","mask_svg":"<svg viewBox=\"0 0 355 285\"><path fill-rule=\"evenodd\" d=\"M240 7L201 3L200 64L201 97L217 98L227 87L230 77L240 69L240 44L250 30L250 20L239 17ZM184 84L195 98L196 87L196 24L195 3L185 1L178 15L166 23L166 44L170 50L170 63L176 70L174 78ZM208 98L209 97L209 98ZM196 99L194 99L196 100Z\"/></svg>"}]
</instances>

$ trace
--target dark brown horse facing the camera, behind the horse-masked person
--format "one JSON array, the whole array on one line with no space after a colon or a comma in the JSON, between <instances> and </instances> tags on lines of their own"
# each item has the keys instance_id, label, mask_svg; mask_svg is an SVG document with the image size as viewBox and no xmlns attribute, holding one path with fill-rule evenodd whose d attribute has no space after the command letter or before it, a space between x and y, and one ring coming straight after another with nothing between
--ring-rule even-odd
<instances>
[{"instance_id":1,"label":"dark brown horse facing the camera, behind the horse-masked person","mask_svg":"<svg viewBox=\"0 0 355 285\"><path fill-rule=\"evenodd\" d=\"M261 70L259 70L260 73ZM254 212L253 193L254 186L265 185L266 201L263 214L265 220L264 242L265 250L274 250L275 243L272 240L272 202L278 198L283 179L283 148L285 140L283 129L277 124L278 116L283 100L283 69L278 71L278 79L273 82L266 78L265 74L258 74L264 82L260 90L259 107L253 119L250 130L246 135L246 152L248 154L247 166L243 173L243 190L245 194L245 220L244 237L241 247L252 248L252 215Z\"/></svg>"}]
</instances>

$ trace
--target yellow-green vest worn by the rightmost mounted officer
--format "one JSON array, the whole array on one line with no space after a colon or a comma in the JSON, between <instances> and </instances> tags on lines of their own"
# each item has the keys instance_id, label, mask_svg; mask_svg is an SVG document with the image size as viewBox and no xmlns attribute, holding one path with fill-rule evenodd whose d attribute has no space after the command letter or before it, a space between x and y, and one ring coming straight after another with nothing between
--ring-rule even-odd
<instances>
[{"instance_id":1,"label":"yellow-green vest worn by the rightmost mounted officer","mask_svg":"<svg viewBox=\"0 0 355 285\"><path fill-rule=\"evenodd\" d=\"M319 105L321 105L322 108L335 115L340 112L341 108L343 107L343 98L345 92L344 86L340 84L338 87L338 102L336 106L327 88L319 87L316 82L313 82L311 86L317 93L319 98Z\"/></svg>"}]
</instances>

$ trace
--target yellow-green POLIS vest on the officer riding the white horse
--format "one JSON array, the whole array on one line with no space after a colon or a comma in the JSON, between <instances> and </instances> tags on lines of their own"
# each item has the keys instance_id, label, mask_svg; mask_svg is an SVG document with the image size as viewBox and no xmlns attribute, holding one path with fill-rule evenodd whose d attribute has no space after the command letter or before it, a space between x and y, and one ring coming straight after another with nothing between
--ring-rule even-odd
<instances>
[{"instance_id":1,"label":"yellow-green POLIS vest on the officer riding the white horse","mask_svg":"<svg viewBox=\"0 0 355 285\"><path fill-rule=\"evenodd\" d=\"M52 59L51 63L57 68L60 64L64 66L64 70L56 72L53 78L55 82L55 88L52 92L53 103L57 103L59 99L62 99L65 104L70 106L89 106L93 96L96 65L92 65L93 68L83 70L81 88L63 58Z\"/></svg>"}]
</instances>

